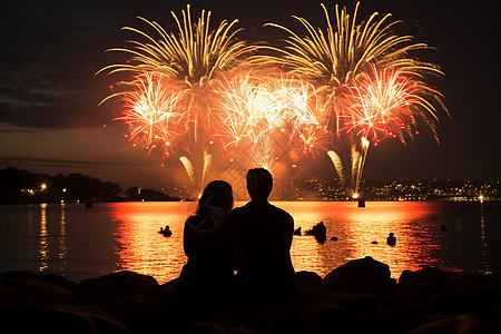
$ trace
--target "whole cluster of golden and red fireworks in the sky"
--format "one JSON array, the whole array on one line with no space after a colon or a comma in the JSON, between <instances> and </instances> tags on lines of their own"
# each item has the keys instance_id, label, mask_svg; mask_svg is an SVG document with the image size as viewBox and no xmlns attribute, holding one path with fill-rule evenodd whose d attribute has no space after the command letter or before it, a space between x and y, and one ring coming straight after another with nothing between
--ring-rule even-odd
<instances>
[{"instance_id":1,"label":"whole cluster of golden and red fireworks in the sky","mask_svg":"<svg viewBox=\"0 0 501 334\"><path fill-rule=\"evenodd\" d=\"M125 27L146 42L110 49L131 57L101 69L132 75L120 82L125 91L110 96L121 96L125 105L116 119L129 125L130 140L143 140L149 150L161 147L164 157L183 150L180 161L199 187L217 161L216 137L223 151L252 147L252 165L268 169L289 148L303 156L326 151L343 181L350 174L335 147L348 143L356 194L371 144L386 137L412 140L421 126L438 140L436 107L446 109L425 78L442 72L410 57L429 47L396 33L399 21L390 21L391 14L373 13L358 22L357 3L353 14L336 6L331 20L327 8L322 9L324 29L294 17L306 37L267 23L288 33L285 48L238 40L237 20L212 30L210 11L193 20L189 4L181 18L171 12L176 32L139 18L159 39ZM281 56L249 57L263 50Z\"/></svg>"}]
</instances>

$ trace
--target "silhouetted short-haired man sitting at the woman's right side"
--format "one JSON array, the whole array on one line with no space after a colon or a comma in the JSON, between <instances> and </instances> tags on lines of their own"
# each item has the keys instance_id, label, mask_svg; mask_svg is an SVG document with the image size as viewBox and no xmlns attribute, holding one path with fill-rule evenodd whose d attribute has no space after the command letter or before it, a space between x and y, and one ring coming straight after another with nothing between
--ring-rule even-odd
<instances>
[{"instance_id":1,"label":"silhouetted short-haired man sitting at the woman's right side","mask_svg":"<svg viewBox=\"0 0 501 334\"><path fill-rule=\"evenodd\" d=\"M247 191L250 202L232 210L235 269L242 288L277 289L294 284L291 244L294 219L268 203L273 177L264 168L249 169Z\"/></svg>"}]
</instances>

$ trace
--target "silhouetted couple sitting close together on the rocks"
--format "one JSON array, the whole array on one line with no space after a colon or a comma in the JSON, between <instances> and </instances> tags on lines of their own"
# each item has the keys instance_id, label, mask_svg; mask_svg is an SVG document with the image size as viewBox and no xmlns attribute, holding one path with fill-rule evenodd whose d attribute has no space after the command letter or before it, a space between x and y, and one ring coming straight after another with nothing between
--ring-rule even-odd
<instances>
[{"instance_id":1,"label":"silhouetted couple sitting close together on the rocks","mask_svg":"<svg viewBox=\"0 0 501 334\"><path fill-rule=\"evenodd\" d=\"M205 188L196 215L185 223L188 263L177 285L193 293L242 289L276 291L293 286L291 244L294 219L268 203L273 177L264 168L247 173L250 202L234 208L232 186L214 180ZM234 276L234 271L237 274Z\"/></svg>"}]
</instances>

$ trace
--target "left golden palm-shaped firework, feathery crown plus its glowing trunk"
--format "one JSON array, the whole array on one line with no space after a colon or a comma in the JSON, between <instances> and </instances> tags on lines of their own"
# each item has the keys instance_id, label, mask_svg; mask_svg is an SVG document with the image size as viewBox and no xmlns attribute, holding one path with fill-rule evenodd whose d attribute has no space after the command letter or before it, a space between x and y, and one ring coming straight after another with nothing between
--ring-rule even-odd
<instances>
[{"instance_id":1,"label":"left golden palm-shaped firework, feathery crown plus its glowing trunk","mask_svg":"<svg viewBox=\"0 0 501 334\"><path fill-rule=\"evenodd\" d=\"M119 51L130 55L126 63L109 65L99 72L108 75L128 72L141 76L146 72L160 75L176 84L175 89L187 94L186 112L193 125L195 143L210 136L212 122L212 85L217 72L229 71L246 63L246 53L255 50L236 35L238 20L223 20L212 30L212 12L202 10L200 17L191 19L190 6L181 11L181 17L171 12L178 31L167 32L159 23L140 18L158 35L155 39L148 33L131 27L124 27L137 33L146 41L129 40L130 48L111 48L107 51ZM131 82L120 82L129 86Z\"/></svg>"}]
</instances>

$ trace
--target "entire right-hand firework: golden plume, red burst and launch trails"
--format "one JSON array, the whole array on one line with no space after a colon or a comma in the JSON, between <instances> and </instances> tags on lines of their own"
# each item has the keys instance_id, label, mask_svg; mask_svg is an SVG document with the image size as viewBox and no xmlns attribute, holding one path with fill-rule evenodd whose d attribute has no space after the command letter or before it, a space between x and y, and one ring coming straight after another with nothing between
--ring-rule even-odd
<instances>
[{"instance_id":1,"label":"entire right-hand firework: golden plume, red burst and launch trails","mask_svg":"<svg viewBox=\"0 0 501 334\"><path fill-rule=\"evenodd\" d=\"M282 57L255 57L261 65L282 66L315 86L320 100L317 119L326 135L337 134L331 136L327 154L338 171L343 164L337 154L333 155L334 147L348 139L354 193L365 164L367 140L377 145L381 134L399 136L402 141L406 134L412 139L419 121L438 139L435 107L446 111L442 95L424 82L428 75L442 75L439 67L410 57L412 51L429 47L413 42L412 36L397 35L394 28L399 21L390 21L391 14L373 13L366 21L357 22L358 6L353 16L336 6L333 22L322 4L324 29L294 17L305 28L306 37L268 23L288 33L286 47L262 47L278 51ZM382 72L376 72L375 67ZM373 73L369 73L371 69ZM344 179L342 174L340 177Z\"/></svg>"}]
</instances>

